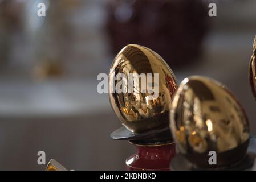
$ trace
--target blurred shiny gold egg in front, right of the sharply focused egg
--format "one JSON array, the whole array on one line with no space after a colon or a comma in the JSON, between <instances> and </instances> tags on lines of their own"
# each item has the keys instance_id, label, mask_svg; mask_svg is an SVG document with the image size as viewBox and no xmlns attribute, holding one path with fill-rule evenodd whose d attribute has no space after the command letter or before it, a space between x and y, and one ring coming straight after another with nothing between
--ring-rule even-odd
<instances>
[{"instance_id":1,"label":"blurred shiny gold egg in front, right of the sharply focused egg","mask_svg":"<svg viewBox=\"0 0 256 182\"><path fill-rule=\"evenodd\" d=\"M178 150L201 168L242 160L249 143L249 123L237 99L220 82L185 78L173 98L170 128ZM217 163L210 164L210 151Z\"/></svg>"}]
</instances>

